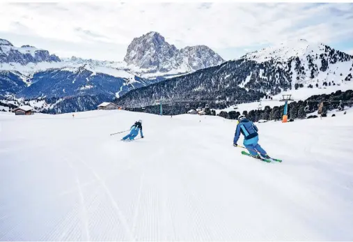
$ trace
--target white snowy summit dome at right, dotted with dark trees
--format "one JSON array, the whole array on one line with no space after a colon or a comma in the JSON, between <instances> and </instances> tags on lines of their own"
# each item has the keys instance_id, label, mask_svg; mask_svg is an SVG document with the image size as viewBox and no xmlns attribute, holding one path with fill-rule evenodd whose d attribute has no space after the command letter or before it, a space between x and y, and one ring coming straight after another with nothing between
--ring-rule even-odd
<instances>
[{"instance_id":1,"label":"white snowy summit dome at right, dotted with dark trees","mask_svg":"<svg viewBox=\"0 0 353 242\"><path fill-rule=\"evenodd\" d=\"M279 73L274 77L287 85L279 85L281 90L270 91L272 94L285 91L288 84L290 89L298 89L299 86L322 88L331 84L340 85L350 81L353 73L352 55L334 50L324 43L311 43L304 39L251 52L241 59L259 64L258 82L272 82L265 74L269 65L276 70L275 73ZM262 90L269 92L266 87Z\"/></svg>"}]
</instances>

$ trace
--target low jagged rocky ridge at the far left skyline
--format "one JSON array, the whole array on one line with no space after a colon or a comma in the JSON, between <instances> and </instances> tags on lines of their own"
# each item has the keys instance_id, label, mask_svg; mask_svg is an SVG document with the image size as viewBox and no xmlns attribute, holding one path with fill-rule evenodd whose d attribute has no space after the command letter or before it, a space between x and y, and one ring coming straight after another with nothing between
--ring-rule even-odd
<instances>
[{"instance_id":1,"label":"low jagged rocky ridge at the far left skyline","mask_svg":"<svg viewBox=\"0 0 353 242\"><path fill-rule=\"evenodd\" d=\"M42 61L61 61L55 54L49 54L47 50L39 50L31 45L14 47L8 40L0 39L0 63L38 63Z\"/></svg>"}]
</instances>

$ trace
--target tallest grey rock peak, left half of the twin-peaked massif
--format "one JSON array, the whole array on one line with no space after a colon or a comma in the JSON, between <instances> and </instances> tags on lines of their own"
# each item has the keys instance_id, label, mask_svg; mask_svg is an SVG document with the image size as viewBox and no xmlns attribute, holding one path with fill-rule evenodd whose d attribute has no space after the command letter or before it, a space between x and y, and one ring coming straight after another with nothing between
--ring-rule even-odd
<instances>
[{"instance_id":1,"label":"tallest grey rock peak, left half of the twin-peaked massif","mask_svg":"<svg viewBox=\"0 0 353 242\"><path fill-rule=\"evenodd\" d=\"M182 56L174 45L166 43L163 36L150 32L132 40L124 61L140 68L167 72L182 65Z\"/></svg>"}]
</instances>

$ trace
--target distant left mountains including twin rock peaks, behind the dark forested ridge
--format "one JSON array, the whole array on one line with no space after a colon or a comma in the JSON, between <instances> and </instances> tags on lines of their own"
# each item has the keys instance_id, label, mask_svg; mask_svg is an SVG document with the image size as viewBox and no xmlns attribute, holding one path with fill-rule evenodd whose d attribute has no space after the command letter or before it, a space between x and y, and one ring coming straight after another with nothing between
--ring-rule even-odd
<instances>
[{"instance_id":1,"label":"distant left mountains including twin rock peaks, behind the dark forested ridge","mask_svg":"<svg viewBox=\"0 0 353 242\"><path fill-rule=\"evenodd\" d=\"M0 95L11 100L45 97L72 102L79 96L97 95L113 100L132 89L223 62L205 45L178 50L157 32L134 38L120 62L75 56L60 59L47 50L14 47L0 39Z\"/></svg>"}]
</instances>

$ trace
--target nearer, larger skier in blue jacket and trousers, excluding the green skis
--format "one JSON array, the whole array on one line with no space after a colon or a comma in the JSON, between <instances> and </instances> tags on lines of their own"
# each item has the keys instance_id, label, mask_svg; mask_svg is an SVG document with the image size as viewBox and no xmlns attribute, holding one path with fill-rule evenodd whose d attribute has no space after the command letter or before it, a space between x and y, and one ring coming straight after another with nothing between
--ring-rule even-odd
<instances>
[{"instance_id":1,"label":"nearer, larger skier in blue jacket and trousers, excluding the green skis","mask_svg":"<svg viewBox=\"0 0 353 242\"><path fill-rule=\"evenodd\" d=\"M258 153L260 153L263 158L269 158L266 151L261 148L260 144L258 144L258 128L256 125L253 124L253 122L251 122L249 119L246 119L244 115L240 115L238 117L238 121L239 123L237 124L237 129L235 130L233 145L237 146L237 141L240 137L240 133L242 133L242 135L244 135L243 144L251 156L260 158L258 155Z\"/></svg>"}]
</instances>

